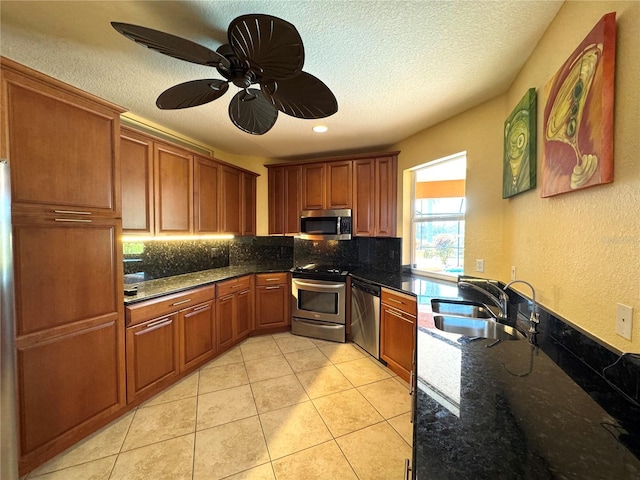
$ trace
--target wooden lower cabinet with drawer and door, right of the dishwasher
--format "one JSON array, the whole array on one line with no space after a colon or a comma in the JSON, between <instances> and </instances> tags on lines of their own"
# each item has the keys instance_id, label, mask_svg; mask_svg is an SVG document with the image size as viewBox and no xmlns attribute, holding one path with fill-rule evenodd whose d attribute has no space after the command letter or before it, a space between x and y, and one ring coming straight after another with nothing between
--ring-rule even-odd
<instances>
[{"instance_id":1,"label":"wooden lower cabinet with drawer and door, right of the dishwasher","mask_svg":"<svg viewBox=\"0 0 640 480\"><path fill-rule=\"evenodd\" d=\"M382 290L380 313L380 357L401 378L410 381L416 341L416 299Z\"/></svg>"}]
</instances>

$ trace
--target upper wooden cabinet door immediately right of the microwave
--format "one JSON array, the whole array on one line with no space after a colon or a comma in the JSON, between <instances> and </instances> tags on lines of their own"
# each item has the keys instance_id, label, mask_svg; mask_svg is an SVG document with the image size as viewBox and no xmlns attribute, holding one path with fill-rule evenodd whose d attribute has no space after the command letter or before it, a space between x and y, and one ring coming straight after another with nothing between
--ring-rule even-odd
<instances>
[{"instance_id":1,"label":"upper wooden cabinet door immediately right of the microwave","mask_svg":"<svg viewBox=\"0 0 640 480\"><path fill-rule=\"evenodd\" d=\"M372 158L353 162L353 235L375 236L375 173Z\"/></svg>"}]
</instances>

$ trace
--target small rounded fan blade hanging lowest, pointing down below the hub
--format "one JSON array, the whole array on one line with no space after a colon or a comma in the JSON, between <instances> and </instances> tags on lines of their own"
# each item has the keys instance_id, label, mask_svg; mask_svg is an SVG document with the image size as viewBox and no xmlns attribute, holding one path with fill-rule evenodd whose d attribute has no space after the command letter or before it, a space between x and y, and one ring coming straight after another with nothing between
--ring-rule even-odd
<instances>
[{"instance_id":1,"label":"small rounded fan blade hanging lowest, pointing down below the hub","mask_svg":"<svg viewBox=\"0 0 640 480\"><path fill-rule=\"evenodd\" d=\"M229 103L229 117L240 130L262 135L271 130L278 119L278 110L257 88L241 90Z\"/></svg>"}]
</instances>

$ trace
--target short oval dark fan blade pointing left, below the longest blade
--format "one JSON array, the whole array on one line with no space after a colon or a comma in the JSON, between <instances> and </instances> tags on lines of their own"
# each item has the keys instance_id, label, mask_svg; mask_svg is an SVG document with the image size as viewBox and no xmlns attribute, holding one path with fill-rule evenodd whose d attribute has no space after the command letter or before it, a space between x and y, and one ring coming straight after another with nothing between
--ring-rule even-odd
<instances>
[{"instance_id":1,"label":"short oval dark fan blade pointing left, below the longest blade","mask_svg":"<svg viewBox=\"0 0 640 480\"><path fill-rule=\"evenodd\" d=\"M196 107L220 98L229 90L224 80L209 78L180 83L160 94L156 105L162 110Z\"/></svg>"}]
</instances>

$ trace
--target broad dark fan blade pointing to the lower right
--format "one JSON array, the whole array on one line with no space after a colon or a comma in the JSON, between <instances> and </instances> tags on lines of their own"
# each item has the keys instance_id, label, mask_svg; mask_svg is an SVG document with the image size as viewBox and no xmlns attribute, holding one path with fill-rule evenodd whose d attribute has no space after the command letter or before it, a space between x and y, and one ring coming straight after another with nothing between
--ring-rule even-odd
<instances>
[{"instance_id":1,"label":"broad dark fan blade pointing to the lower right","mask_svg":"<svg viewBox=\"0 0 640 480\"><path fill-rule=\"evenodd\" d=\"M324 118L338 111L338 102L319 78L301 72L288 80L267 81L262 90L282 113L296 118Z\"/></svg>"}]
</instances>

